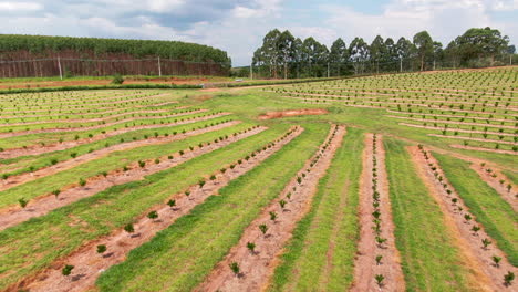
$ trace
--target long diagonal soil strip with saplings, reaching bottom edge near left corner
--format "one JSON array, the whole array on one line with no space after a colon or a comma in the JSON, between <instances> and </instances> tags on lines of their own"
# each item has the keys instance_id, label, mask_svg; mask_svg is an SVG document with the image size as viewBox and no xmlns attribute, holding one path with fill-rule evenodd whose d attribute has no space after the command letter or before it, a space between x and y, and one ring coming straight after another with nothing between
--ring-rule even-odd
<instances>
[{"instance_id":1,"label":"long diagonal soil strip with saplings, reaching bottom edge near left corner","mask_svg":"<svg viewBox=\"0 0 518 292\"><path fill-rule=\"evenodd\" d=\"M172 199L176 200L176 207L170 208L165 205L155 206L149 210L158 212L159 220L151 220L143 213L139 219L134 223L136 237L130 237L124 230L115 230L106 238L94 240L80 248L69 257L59 260L58 263L52 264L51 269L39 274L37 278L23 283L23 286L12 288L12 291L18 289L28 289L30 291L86 291L94 286L95 280L100 272L105 271L111 265L120 263L125 260L131 250L149 241L158 231L166 229L175 222L175 220L188 213L195 206L201 204L205 199L213 195L217 195L218 190L227 186L228 182L237 177L250 171L272 154L281 149L286 144L290 143L294 137L299 136L303 128L297 127L294 131L276 143L271 148L261 150L251 157L249 160L242 160L239 167L222 174L217 174L215 180L208 180L207 184L200 188L198 185L190 187L190 196L186 197L183 194L175 194ZM97 244L105 244L107 247L107 254L105 257L99 255L96 252ZM74 265L71 275L72 281L61 274L63 264Z\"/></svg>"}]
</instances>

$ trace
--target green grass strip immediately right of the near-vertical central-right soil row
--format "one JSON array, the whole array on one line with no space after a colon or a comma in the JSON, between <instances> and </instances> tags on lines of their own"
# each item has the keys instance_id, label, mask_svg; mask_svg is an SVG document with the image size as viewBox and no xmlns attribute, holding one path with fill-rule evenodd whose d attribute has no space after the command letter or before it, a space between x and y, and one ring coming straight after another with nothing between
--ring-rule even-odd
<instances>
[{"instance_id":1,"label":"green grass strip immediately right of the near-vertical central-right soil row","mask_svg":"<svg viewBox=\"0 0 518 292\"><path fill-rule=\"evenodd\" d=\"M428 195L405 149L385 138L396 247L401 252L407 291L473 291L470 271L445 227L444 215Z\"/></svg>"}]
</instances>

